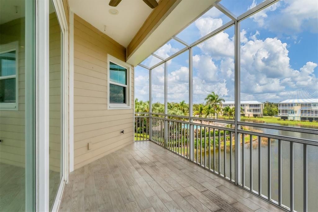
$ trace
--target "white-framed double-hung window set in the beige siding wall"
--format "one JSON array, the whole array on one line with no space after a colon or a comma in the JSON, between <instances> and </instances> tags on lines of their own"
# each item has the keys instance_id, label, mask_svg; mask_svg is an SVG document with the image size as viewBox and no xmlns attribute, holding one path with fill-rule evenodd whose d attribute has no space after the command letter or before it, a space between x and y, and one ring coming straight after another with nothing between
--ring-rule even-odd
<instances>
[{"instance_id":1,"label":"white-framed double-hung window set in the beige siding wall","mask_svg":"<svg viewBox=\"0 0 318 212\"><path fill-rule=\"evenodd\" d=\"M108 55L108 109L130 109L130 65Z\"/></svg>"}]
</instances>

